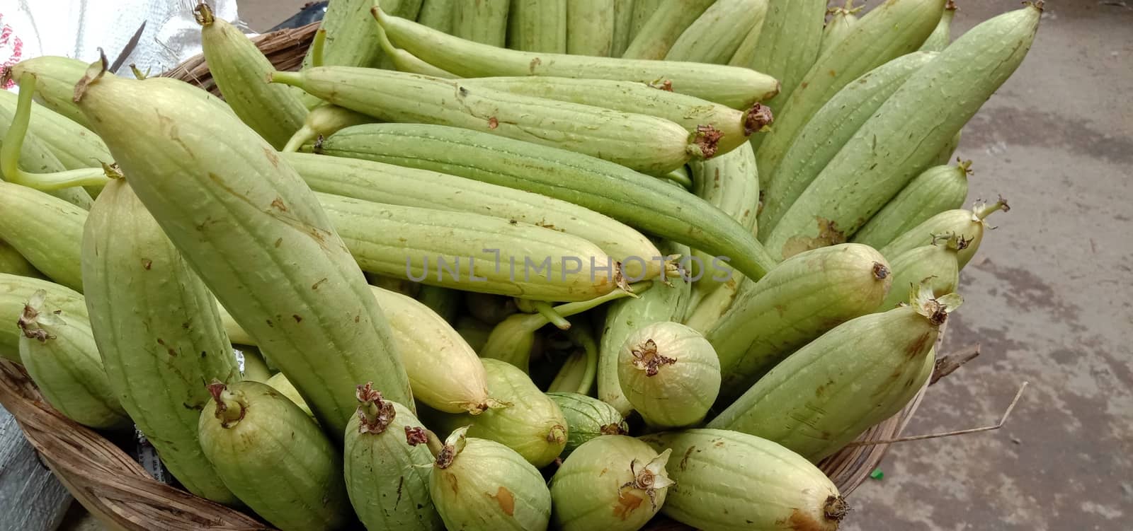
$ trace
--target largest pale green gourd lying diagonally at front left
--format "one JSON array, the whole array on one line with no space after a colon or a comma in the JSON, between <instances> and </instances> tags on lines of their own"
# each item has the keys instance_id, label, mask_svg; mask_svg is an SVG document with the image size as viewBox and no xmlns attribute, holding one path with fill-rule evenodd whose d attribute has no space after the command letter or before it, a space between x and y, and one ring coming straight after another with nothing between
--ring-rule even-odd
<instances>
[{"instance_id":1,"label":"largest pale green gourd lying diagonally at front left","mask_svg":"<svg viewBox=\"0 0 1133 531\"><path fill-rule=\"evenodd\" d=\"M295 170L204 100L96 68L91 76L79 105L135 194L320 423L341 436L358 382L409 402L389 324Z\"/></svg>"}]
</instances>

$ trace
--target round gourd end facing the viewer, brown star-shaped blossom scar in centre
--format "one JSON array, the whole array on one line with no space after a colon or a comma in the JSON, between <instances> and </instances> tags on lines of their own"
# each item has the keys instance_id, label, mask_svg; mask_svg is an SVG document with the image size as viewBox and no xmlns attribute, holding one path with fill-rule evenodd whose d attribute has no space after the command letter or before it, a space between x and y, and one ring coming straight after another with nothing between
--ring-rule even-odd
<instances>
[{"instance_id":1,"label":"round gourd end facing the viewer, brown star-shaped blossom scar in centre","mask_svg":"<svg viewBox=\"0 0 1133 531\"><path fill-rule=\"evenodd\" d=\"M622 344L617 379L650 426L691 426L704 420L719 394L719 359L699 332L678 323L655 323L631 333Z\"/></svg>"}]
</instances>

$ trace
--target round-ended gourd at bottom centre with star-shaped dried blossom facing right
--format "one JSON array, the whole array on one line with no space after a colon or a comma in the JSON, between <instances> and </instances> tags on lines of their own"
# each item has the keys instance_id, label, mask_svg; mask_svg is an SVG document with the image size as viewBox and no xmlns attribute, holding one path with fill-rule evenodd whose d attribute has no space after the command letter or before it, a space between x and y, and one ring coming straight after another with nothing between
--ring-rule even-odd
<instances>
[{"instance_id":1,"label":"round-ended gourd at bottom centre with star-shaped dried blossom facing right","mask_svg":"<svg viewBox=\"0 0 1133 531\"><path fill-rule=\"evenodd\" d=\"M551 480L554 526L563 531L636 531L665 503L673 481L661 454L624 435L590 439L579 446Z\"/></svg>"}]
</instances>

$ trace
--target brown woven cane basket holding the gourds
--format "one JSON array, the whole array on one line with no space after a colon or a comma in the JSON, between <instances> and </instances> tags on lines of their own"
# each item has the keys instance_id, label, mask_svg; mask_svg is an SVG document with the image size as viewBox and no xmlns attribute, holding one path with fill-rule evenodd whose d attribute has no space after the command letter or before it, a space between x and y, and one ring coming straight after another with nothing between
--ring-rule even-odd
<instances>
[{"instance_id":1,"label":"brown woven cane basket holding the gourds","mask_svg":"<svg viewBox=\"0 0 1133 531\"><path fill-rule=\"evenodd\" d=\"M317 29L312 24L261 35L256 44L280 70L295 70ZM202 55L194 57L164 74L216 92ZM937 352L944 339L942 328ZM870 428L859 442L891 440L901 435L917 411L925 388L900 413ZM239 511L198 498L161 483L126 452L100 434L56 411L43 400L24 369L0 359L0 404L7 409L60 482L105 526L129 531L249 531L272 530L270 525ZM827 457L819 468L837 485L843 496L860 486L881 462L887 444L851 445ZM683 524L664 517L648 530L684 530Z\"/></svg>"}]
</instances>

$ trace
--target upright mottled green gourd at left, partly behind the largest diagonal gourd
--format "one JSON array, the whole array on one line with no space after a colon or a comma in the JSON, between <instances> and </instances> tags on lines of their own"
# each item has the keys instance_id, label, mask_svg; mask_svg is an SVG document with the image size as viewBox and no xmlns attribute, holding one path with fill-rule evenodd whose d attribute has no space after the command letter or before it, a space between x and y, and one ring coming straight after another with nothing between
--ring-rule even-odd
<instances>
[{"instance_id":1,"label":"upright mottled green gourd at left, partly behind the largest diagonal gourd","mask_svg":"<svg viewBox=\"0 0 1133 531\"><path fill-rule=\"evenodd\" d=\"M240 379L212 293L120 179L91 208L82 258L91 329L118 401L186 489L238 504L197 442L204 383Z\"/></svg>"}]
</instances>

